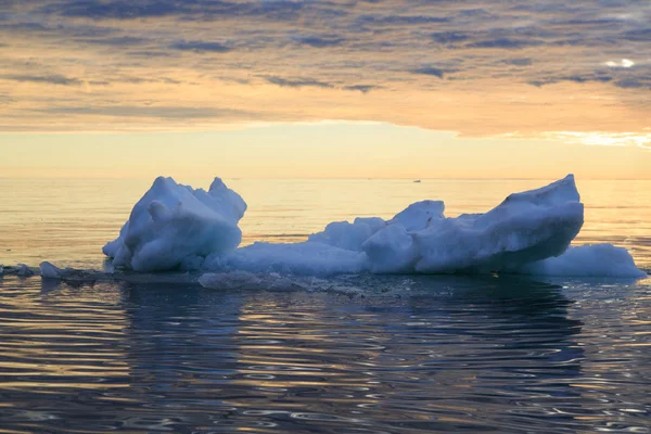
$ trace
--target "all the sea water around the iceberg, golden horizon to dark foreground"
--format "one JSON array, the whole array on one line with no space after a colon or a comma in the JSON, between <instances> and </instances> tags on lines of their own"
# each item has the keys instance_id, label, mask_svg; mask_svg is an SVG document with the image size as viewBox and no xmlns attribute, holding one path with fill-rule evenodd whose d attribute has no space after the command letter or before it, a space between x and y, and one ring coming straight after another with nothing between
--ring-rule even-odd
<instances>
[{"instance_id":1,"label":"all the sea water around the iceberg, golden horizon to dark foreground","mask_svg":"<svg viewBox=\"0 0 651 434\"><path fill-rule=\"evenodd\" d=\"M181 180L194 187L205 182ZM244 242L545 181L226 180ZM149 187L0 180L0 263L101 268ZM577 239L651 268L651 182L578 181ZM296 291L0 279L2 432L651 432L651 281L340 277Z\"/></svg>"}]
</instances>

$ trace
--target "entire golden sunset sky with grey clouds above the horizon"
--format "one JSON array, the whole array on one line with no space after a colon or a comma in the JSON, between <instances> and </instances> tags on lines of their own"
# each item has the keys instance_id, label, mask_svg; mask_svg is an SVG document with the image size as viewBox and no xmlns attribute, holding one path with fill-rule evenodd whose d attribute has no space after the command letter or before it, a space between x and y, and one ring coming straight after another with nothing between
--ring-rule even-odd
<instances>
[{"instance_id":1,"label":"entire golden sunset sky with grey clouds above the horizon","mask_svg":"<svg viewBox=\"0 0 651 434\"><path fill-rule=\"evenodd\" d=\"M4 0L0 177L651 178L651 2Z\"/></svg>"}]
</instances>

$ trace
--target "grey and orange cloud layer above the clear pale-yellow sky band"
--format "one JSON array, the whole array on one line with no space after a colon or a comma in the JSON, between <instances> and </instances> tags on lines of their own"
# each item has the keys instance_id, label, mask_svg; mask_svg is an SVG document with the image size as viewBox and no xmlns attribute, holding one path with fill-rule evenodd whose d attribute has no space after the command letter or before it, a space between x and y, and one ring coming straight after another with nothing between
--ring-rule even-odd
<instances>
[{"instance_id":1,"label":"grey and orange cloud layer above the clear pale-yellow sky band","mask_svg":"<svg viewBox=\"0 0 651 434\"><path fill-rule=\"evenodd\" d=\"M120 105L120 113L133 113L138 129L141 111L128 107L144 100L167 107L220 101L242 119L255 120L265 107L266 118L290 122L370 119L472 133L556 128L565 118L585 128L603 119L612 119L613 129L638 128L651 118L651 8L639 1L0 3L0 94L40 110L22 118L26 112L3 104L0 117L23 119L15 128L60 125L49 108L91 119L104 106ZM275 87L260 91L261 82ZM429 106L433 100L439 105ZM576 106L585 101L589 106ZM450 114L464 117L469 110L492 120L470 126ZM496 111L512 115L495 119ZM560 117L575 112L580 116Z\"/></svg>"}]
</instances>

